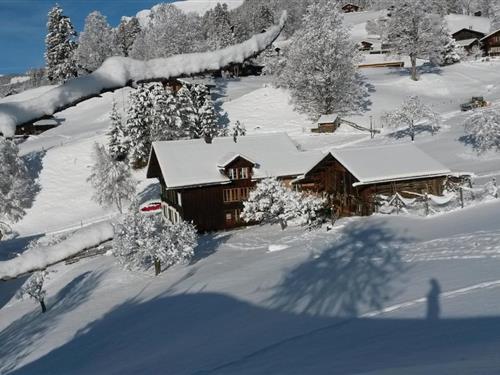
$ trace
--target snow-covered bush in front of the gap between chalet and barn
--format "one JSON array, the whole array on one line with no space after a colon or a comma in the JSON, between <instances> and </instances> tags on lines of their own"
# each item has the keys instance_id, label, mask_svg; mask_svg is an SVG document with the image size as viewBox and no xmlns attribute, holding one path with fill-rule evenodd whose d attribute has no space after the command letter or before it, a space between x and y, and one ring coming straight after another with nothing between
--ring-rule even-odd
<instances>
[{"instance_id":1,"label":"snow-covered bush in front of the gap between chalet and barn","mask_svg":"<svg viewBox=\"0 0 500 375\"><path fill-rule=\"evenodd\" d=\"M312 225L325 204L324 199L293 191L271 177L250 192L248 200L243 202L241 218L246 222L279 223L281 229L294 219L300 225Z\"/></svg>"}]
</instances>

